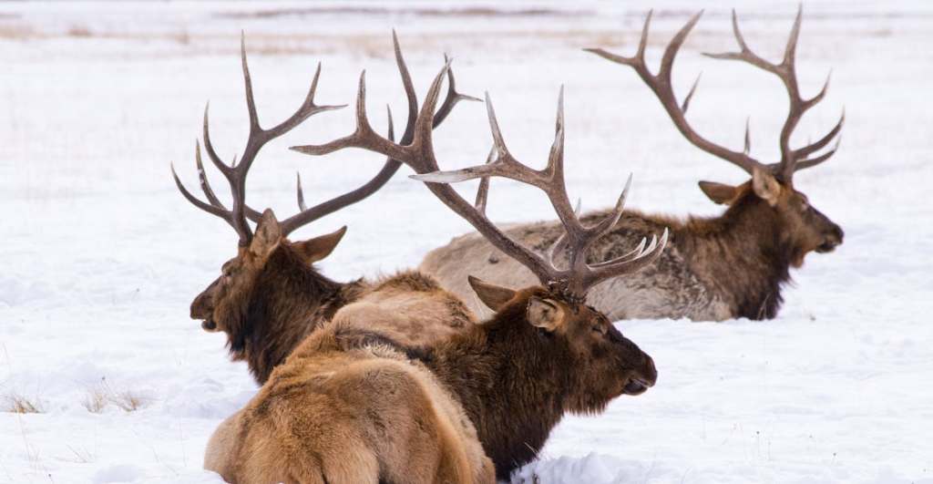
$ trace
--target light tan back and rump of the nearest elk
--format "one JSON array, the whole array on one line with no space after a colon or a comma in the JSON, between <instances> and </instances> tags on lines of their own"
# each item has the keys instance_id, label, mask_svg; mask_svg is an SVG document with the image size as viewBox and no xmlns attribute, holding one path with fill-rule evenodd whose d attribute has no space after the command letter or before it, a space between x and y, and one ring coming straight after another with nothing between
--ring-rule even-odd
<instances>
[{"instance_id":1,"label":"light tan back and rump of the nearest elk","mask_svg":"<svg viewBox=\"0 0 933 484\"><path fill-rule=\"evenodd\" d=\"M305 339L217 428L204 467L232 483L494 482L473 424L431 372L354 331L334 321Z\"/></svg>"}]
</instances>

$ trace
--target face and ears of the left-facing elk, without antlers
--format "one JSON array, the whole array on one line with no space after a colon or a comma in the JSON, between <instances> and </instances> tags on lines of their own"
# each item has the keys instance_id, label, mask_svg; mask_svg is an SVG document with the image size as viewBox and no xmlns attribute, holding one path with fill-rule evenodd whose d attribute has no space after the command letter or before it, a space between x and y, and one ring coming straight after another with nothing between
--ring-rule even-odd
<instances>
[{"instance_id":1,"label":"face and ears of the left-facing elk, without antlers","mask_svg":"<svg viewBox=\"0 0 933 484\"><path fill-rule=\"evenodd\" d=\"M220 277L191 303L191 319L202 320L205 331L232 335L244 329L247 311L258 281L265 277L287 277L288 268L272 267L270 260L280 251L293 252L306 266L321 260L341 241L346 227L303 242L288 242L271 210L259 221L248 247L221 268ZM295 260L285 257L285 260ZM305 269L305 268L299 268Z\"/></svg>"}]
</instances>

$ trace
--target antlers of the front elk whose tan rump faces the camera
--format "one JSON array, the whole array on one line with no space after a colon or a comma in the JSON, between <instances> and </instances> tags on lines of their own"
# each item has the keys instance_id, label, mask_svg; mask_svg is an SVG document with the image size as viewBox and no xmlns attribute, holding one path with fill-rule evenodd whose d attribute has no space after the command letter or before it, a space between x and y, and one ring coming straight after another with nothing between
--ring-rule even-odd
<instances>
[{"instance_id":1,"label":"antlers of the front elk whose tan rump faces the camera","mask_svg":"<svg viewBox=\"0 0 933 484\"><path fill-rule=\"evenodd\" d=\"M399 69L403 72L402 77L406 79L404 85L409 97L410 112L417 111L414 89L411 86L411 79L407 76L407 69L404 68L403 62L399 63ZM652 237L648 248L646 248L646 241L643 240L638 248L626 256L600 264L588 265L586 263L586 253L592 246L592 242L605 235L619 221L625 197L628 194L629 184L626 184L625 189L622 191L622 195L612 214L609 214L606 219L595 226L583 227L571 208L566 194L566 187L564 186L563 89L558 102L554 144L550 150L548 166L544 170L537 171L528 168L509 154L508 147L502 138L498 122L495 119L492 102L487 94L486 107L493 131L494 153L491 154L489 161L485 165L453 172L440 172L433 149L431 113L434 112L434 107L438 103L440 86L444 76L449 73L449 69L450 64L448 62L431 84L425 98L425 104L421 107L420 113L415 120L411 145L397 145L391 140L378 135L369 126L366 117L365 77L360 76L359 92L356 100L356 130L348 136L325 145L295 146L292 149L301 153L320 156L347 147L357 147L401 160L409 165L415 173L418 173L413 178L427 182L427 187L440 201L450 207L453 212L464 217L496 248L508 254L508 256L514 257L522 265L534 272L542 284L563 293L566 297L582 299L592 285L611 277L640 270L660 256L661 250L667 242L666 229L661 236L660 242L657 237ZM493 155L496 156L493 157ZM548 195L554 210L564 224L566 233L555 242L546 258L537 255L527 247L509 238L486 217L485 205L489 176L503 176L518 180L538 187ZM480 182L480 190L475 205L464 200L453 187L447 185L448 183L472 178L483 179ZM562 270L558 269L551 262L551 259L556 250L564 247L570 249L570 264L567 269Z\"/></svg>"}]
</instances>

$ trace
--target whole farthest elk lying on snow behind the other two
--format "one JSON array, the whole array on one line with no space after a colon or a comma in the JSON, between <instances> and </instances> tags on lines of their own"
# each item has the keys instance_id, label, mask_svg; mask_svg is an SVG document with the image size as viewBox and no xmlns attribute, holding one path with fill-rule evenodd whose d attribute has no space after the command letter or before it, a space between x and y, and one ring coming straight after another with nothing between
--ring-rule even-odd
<instances>
[{"instance_id":1,"label":"whole farthest elk lying on snow behind the other two","mask_svg":"<svg viewBox=\"0 0 933 484\"><path fill-rule=\"evenodd\" d=\"M637 276L603 283L590 292L590 303L599 311L606 312L610 319L770 319L780 309L781 287L790 278L789 269L800 268L804 256L810 252L831 252L842 243L842 228L811 206L806 195L793 185L795 171L813 167L835 153L834 147L813 156L829 145L842 129L841 118L826 136L815 143L796 149L790 146L790 135L801 116L822 100L826 92L824 86L813 98L801 97L794 62L801 14L798 13L794 22L784 60L778 64L761 59L746 46L734 12L732 15L735 38L741 50L709 56L749 62L778 76L784 83L790 108L780 136L781 159L776 163L764 164L748 155L747 130L743 152L714 145L694 131L686 114L696 89L695 83L683 104L677 103L671 72L677 50L699 20L699 14L675 35L664 50L657 74L651 74L645 62L650 14L634 57L621 57L598 48L588 49L612 62L633 67L661 101L677 130L691 144L751 175L748 182L738 187L700 182L706 196L728 205L729 208L720 216L689 217L687 221L679 221L664 215L630 212L622 215L619 224L605 238L595 242L590 254L592 260L601 260L620 254L633 240L648 233L662 227L671 228L670 248L658 264ZM606 211L595 212L584 214L582 220L592 223L605 216ZM560 237L562 228L557 222L540 222L511 226L507 233L540 253ZM558 255L558 260L565 260L565 256ZM531 271L504 257L493 244L475 233L458 237L435 249L425 256L419 269L438 278L445 288L462 297L470 309L480 315L489 311L484 310L480 301L472 296L466 283L467 275L510 286L535 280Z\"/></svg>"}]
</instances>

